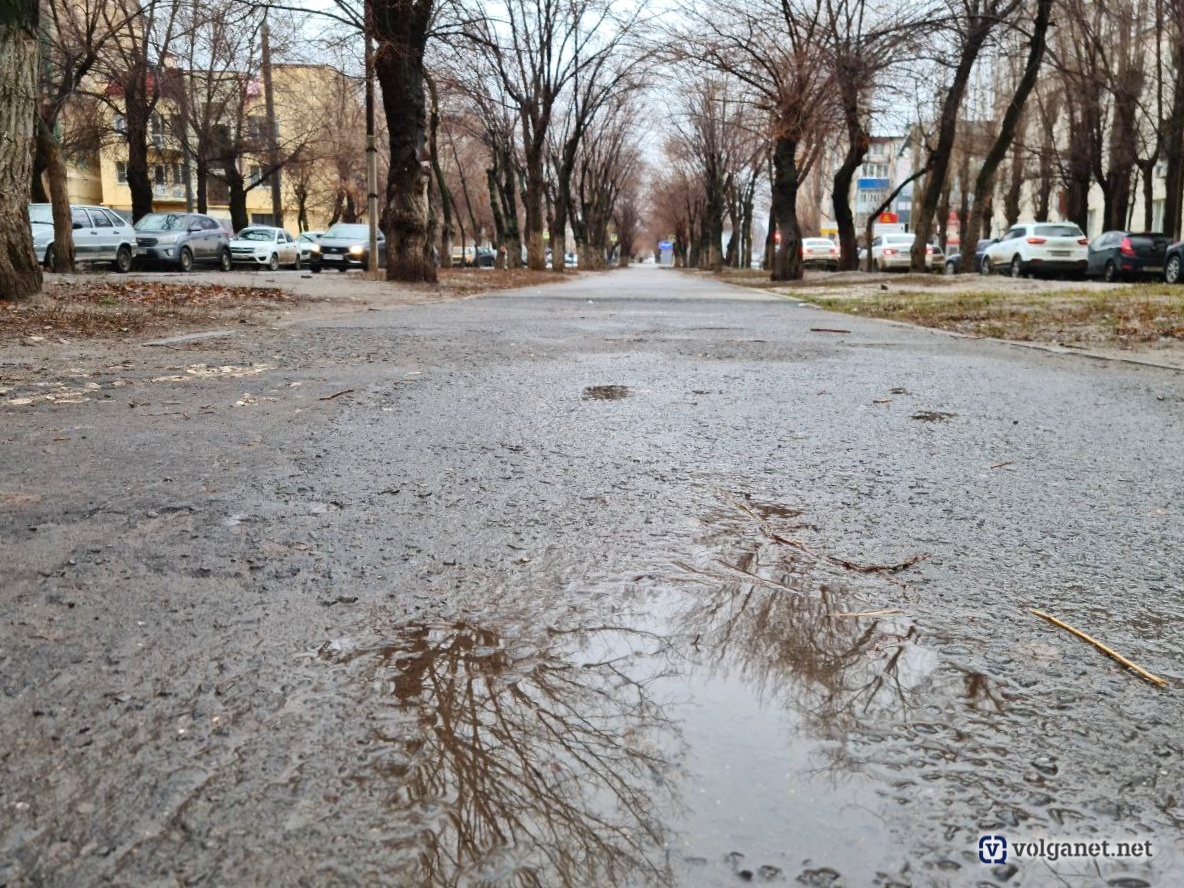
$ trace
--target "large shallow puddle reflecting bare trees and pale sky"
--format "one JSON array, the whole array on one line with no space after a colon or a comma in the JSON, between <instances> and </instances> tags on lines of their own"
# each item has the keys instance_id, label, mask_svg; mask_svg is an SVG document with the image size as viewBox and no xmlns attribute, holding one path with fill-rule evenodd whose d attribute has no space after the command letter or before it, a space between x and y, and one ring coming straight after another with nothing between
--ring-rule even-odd
<instances>
[{"instance_id":1,"label":"large shallow puddle reflecting bare trees and pale sky","mask_svg":"<svg viewBox=\"0 0 1184 888\"><path fill-rule=\"evenodd\" d=\"M408 837L405 883L1163 883L1163 855L982 863L984 834L1074 824L1042 800L1055 757L1017 773L1009 694L877 606L882 578L780 539L588 590L549 626L371 624L311 652L365 699L347 778Z\"/></svg>"}]
</instances>

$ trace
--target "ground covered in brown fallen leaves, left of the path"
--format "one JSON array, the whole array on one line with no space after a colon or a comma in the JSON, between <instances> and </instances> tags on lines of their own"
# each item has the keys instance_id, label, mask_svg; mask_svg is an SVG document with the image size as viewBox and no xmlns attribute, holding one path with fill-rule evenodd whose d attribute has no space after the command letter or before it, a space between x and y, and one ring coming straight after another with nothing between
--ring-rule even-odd
<instances>
[{"instance_id":1,"label":"ground covered in brown fallen leaves, left of the path","mask_svg":"<svg viewBox=\"0 0 1184 888\"><path fill-rule=\"evenodd\" d=\"M47 283L34 300L0 301L0 341L121 340L211 323L251 323L256 310L291 302L290 295L269 287Z\"/></svg>"}]
</instances>

